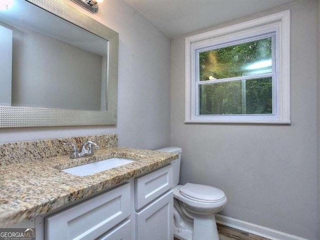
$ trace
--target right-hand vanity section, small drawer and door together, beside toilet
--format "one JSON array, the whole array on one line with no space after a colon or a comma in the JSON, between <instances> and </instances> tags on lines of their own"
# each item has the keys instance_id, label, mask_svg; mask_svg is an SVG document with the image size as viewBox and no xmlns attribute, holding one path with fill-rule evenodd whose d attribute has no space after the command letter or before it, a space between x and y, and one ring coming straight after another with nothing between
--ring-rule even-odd
<instances>
[{"instance_id":1,"label":"right-hand vanity section, small drawer and door together, beside toilet","mask_svg":"<svg viewBox=\"0 0 320 240\"><path fill-rule=\"evenodd\" d=\"M173 239L172 165L135 178L135 239Z\"/></svg>"}]
</instances>

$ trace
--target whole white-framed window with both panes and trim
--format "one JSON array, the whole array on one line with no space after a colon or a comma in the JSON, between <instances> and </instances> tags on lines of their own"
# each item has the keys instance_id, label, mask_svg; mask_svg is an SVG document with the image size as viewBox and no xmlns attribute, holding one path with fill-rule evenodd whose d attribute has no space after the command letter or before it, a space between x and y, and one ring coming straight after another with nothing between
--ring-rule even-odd
<instances>
[{"instance_id":1,"label":"whole white-framed window with both panes and trim","mask_svg":"<svg viewBox=\"0 0 320 240\"><path fill-rule=\"evenodd\" d=\"M289 11L185 38L185 122L290 123Z\"/></svg>"}]
</instances>

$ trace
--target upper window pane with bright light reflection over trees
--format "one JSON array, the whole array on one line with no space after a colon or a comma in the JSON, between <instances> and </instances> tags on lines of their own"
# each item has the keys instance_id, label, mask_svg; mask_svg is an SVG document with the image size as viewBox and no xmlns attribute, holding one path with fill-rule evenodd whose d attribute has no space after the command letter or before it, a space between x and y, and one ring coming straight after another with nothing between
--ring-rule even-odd
<instances>
[{"instance_id":1,"label":"upper window pane with bright light reflection over trees","mask_svg":"<svg viewBox=\"0 0 320 240\"><path fill-rule=\"evenodd\" d=\"M271 37L199 53L200 81L272 72Z\"/></svg>"}]
</instances>

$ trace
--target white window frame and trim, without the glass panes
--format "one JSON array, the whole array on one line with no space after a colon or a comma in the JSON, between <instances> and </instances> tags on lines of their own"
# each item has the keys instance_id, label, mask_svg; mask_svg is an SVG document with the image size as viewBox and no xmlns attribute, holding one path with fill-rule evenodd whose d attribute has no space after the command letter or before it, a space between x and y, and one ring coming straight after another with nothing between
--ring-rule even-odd
<instances>
[{"instance_id":1,"label":"white window frame and trim, without the glass panes","mask_svg":"<svg viewBox=\"0 0 320 240\"><path fill-rule=\"evenodd\" d=\"M272 36L272 113L199 115L198 53ZM245 40L247 39L247 40ZM264 74L256 75L256 78ZM267 74L270 75L270 74ZM239 77L240 79L241 77ZM235 80L207 80L205 83ZM203 81L200 83L203 84ZM185 38L185 123L290 123L290 10Z\"/></svg>"}]
</instances>

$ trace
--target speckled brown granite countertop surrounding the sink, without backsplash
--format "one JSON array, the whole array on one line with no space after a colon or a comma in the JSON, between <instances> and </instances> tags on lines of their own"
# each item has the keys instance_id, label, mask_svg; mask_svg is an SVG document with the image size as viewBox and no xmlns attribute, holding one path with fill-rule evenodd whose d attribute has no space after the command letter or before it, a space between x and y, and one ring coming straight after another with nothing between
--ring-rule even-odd
<instances>
[{"instance_id":1,"label":"speckled brown granite countertop surrounding the sink, without backsplash","mask_svg":"<svg viewBox=\"0 0 320 240\"><path fill-rule=\"evenodd\" d=\"M87 176L60 171L115 156L136 161ZM0 227L52 211L166 165L177 157L167 152L108 147L95 151L93 156L77 159L56 156L3 165L0 168Z\"/></svg>"}]
</instances>

